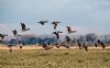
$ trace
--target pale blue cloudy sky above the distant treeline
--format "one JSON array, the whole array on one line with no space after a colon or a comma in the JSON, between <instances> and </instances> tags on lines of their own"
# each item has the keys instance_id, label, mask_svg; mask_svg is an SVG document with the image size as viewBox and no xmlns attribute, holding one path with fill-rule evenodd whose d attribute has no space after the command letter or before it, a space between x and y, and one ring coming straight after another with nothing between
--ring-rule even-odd
<instances>
[{"instance_id":1,"label":"pale blue cloudy sky above the distant treeline","mask_svg":"<svg viewBox=\"0 0 110 68\"><path fill-rule=\"evenodd\" d=\"M0 33L51 34L52 24L40 20L61 21L57 30L64 32L70 25L76 34L110 34L110 0L0 0ZM20 22L31 31L22 33Z\"/></svg>"}]
</instances>

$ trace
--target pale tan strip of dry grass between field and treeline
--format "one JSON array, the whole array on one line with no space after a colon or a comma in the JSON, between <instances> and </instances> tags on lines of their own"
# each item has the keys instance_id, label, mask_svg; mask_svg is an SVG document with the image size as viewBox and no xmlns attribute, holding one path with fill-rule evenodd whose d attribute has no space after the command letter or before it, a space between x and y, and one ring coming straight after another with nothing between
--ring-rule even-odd
<instances>
[{"instance_id":1,"label":"pale tan strip of dry grass between field and treeline","mask_svg":"<svg viewBox=\"0 0 110 68\"><path fill-rule=\"evenodd\" d=\"M1 45L0 46L0 49L10 49L8 46L6 45ZM20 49L19 46L12 46L12 49ZM22 49L44 49L42 46L40 45L30 45L30 46L23 46ZM52 49L67 49L66 47L64 46L61 46L59 48L57 48L56 46L53 46ZM79 49L78 46L70 46L69 49ZM101 46L98 46L98 47L95 47L95 46L89 46L88 49L102 49ZM106 49L110 49L110 46L107 46Z\"/></svg>"}]
</instances>

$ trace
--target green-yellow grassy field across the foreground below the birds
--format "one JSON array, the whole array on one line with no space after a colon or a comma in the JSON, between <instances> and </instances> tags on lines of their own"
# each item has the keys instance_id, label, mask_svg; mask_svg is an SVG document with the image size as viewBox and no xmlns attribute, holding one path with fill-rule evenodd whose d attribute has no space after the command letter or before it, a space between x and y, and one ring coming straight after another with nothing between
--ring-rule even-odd
<instances>
[{"instance_id":1,"label":"green-yellow grassy field across the foreground below the birds","mask_svg":"<svg viewBox=\"0 0 110 68\"><path fill-rule=\"evenodd\" d=\"M0 68L110 68L110 50L0 50Z\"/></svg>"}]
</instances>

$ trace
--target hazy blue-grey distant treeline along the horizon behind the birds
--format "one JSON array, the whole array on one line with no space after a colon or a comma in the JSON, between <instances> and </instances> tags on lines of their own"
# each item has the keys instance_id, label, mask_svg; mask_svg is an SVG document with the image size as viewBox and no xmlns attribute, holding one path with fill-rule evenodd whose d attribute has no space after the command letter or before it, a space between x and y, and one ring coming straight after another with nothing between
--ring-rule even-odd
<instances>
[{"instance_id":1,"label":"hazy blue-grey distant treeline along the horizon behind the birds","mask_svg":"<svg viewBox=\"0 0 110 68\"><path fill-rule=\"evenodd\" d=\"M41 36L33 36L33 35L21 35L20 37L10 37L0 41L1 44L12 44L12 45L18 45L18 44L23 44L23 45L35 45L40 44L42 45L43 43L47 44L56 44L56 43L65 43L66 39L65 36L62 36L59 39L57 39L54 35L41 35ZM80 43L89 43L89 44L95 44L97 43L98 39L100 39L103 43L110 44L110 35L101 35L98 36L97 34L87 34L87 35L68 35L70 37L70 43L72 44L77 44L78 42Z\"/></svg>"}]
</instances>

